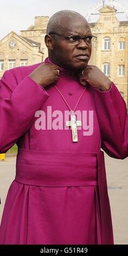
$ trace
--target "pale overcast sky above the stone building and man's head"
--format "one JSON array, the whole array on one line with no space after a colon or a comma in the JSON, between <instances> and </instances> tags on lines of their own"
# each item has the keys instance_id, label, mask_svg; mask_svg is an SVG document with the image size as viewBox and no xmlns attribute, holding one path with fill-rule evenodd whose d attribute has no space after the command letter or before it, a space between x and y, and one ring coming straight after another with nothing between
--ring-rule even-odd
<instances>
[{"instance_id":1,"label":"pale overcast sky above the stone building and man's head","mask_svg":"<svg viewBox=\"0 0 128 256\"><path fill-rule=\"evenodd\" d=\"M20 31L34 25L35 16L52 16L56 11L68 9L82 15L101 0L0 0L0 40L11 31ZM128 9L127 0L119 0ZM118 15L119 16L119 15ZM98 15L93 16L91 22L97 21ZM126 20L120 16L119 20Z\"/></svg>"}]
</instances>

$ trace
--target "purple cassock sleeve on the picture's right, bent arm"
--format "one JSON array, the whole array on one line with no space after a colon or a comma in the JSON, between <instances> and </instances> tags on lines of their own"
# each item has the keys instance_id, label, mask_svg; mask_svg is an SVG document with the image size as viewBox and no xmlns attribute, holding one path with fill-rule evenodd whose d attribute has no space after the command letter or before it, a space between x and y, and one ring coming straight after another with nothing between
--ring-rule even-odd
<instances>
[{"instance_id":1,"label":"purple cassock sleeve on the picture's right, bent arm","mask_svg":"<svg viewBox=\"0 0 128 256\"><path fill-rule=\"evenodd\" d=\"M128 156L128 115L126 103L112 82L110 90L94 88L95 107L101 132L101 148L116 159Z\"/></svg>"}]
</instances>

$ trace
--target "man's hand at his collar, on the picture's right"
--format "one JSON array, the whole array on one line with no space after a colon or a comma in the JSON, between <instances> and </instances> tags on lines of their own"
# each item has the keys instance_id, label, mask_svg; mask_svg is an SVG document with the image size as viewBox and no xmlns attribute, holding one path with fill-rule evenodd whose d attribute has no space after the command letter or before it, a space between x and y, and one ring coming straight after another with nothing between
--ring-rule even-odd
<instances>
[{"instance_id":1,"label":"man's hand at his collar, on the picture's right","mask_svg":"<svg viewBox=\"0 0 128 256\"><path fill-rule=\"evenodd\" d=\"M82 71L79 73L79 82L83 86L86 86L88 82L91 86L103 92L110 89L112 82L97 66L87 65L83 73Z\"/></svg>"}]
</instances>

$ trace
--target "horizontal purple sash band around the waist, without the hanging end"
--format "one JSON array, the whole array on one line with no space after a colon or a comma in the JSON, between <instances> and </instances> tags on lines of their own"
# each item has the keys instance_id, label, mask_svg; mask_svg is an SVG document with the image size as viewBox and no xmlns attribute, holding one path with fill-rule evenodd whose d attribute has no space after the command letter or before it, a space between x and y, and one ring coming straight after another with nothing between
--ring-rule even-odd
<instances>
[{"instance_id":1,"label":"horizontal purple sash band around the waist, without the hanging end","mask_svg":"<svg viewBox=\"0 0 128 256\"><path fill-rule=\"evenodd\" d=\"M34 186L96 186L97 153L18 148L15 180Z\"/></svg>"}]
</instances>

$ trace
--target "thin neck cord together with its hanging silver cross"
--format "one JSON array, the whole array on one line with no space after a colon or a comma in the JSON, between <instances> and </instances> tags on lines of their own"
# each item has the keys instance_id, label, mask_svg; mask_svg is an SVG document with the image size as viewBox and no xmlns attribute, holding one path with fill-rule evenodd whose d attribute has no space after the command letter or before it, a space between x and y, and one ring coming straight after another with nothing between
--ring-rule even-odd
<instances>
[{"instance_id":1,"label":"thin neck cord together with its hanging silver cross","mask_svg":"<svg viewBox=\"0 0 128 256\"><path fill-rule=\"evenodd\" d=\"M77 132L77 126L81 126L82 122L81 121L76 121L76 115L74 114L76 107L78 106L78 103L82 97L82 95L84 94L87 86L85 87L84 91L82 92L82 94L80 95L78 102L76 103L74 109L72 110L71 107L69 107L66 99L63 97L62 93L60 92L60 90L53 84L53 86L56 88L56 90L60 93L62 99L65 101L66 105L68 106L68 108L71 111L71 120L70 121L66 121L66 126L71 126L72 129L72 141L73 142L78 142L78 132Z\"/></svg>"}]
</instances>

